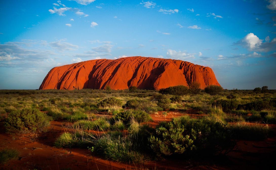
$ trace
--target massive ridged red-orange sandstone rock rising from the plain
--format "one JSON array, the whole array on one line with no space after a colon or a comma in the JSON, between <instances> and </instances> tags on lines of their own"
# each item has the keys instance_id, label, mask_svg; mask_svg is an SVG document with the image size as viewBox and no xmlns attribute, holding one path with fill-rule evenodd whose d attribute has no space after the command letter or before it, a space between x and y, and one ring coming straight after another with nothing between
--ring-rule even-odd
<instances>
[{"instance_id":1,"label":"massive ridged red-orange sandstone rock rising from the plain","mask_svg":"<svg viewBox=\"0 0 276 170\"><path fill-rule=\"evenodd\" d=\"M200 88L219 85L209 67L187 61L152 57L126 57L116 60L98 59L52 68L39 89L140 89L189 86L199 82Z\"/></svg>"}]
</instances>

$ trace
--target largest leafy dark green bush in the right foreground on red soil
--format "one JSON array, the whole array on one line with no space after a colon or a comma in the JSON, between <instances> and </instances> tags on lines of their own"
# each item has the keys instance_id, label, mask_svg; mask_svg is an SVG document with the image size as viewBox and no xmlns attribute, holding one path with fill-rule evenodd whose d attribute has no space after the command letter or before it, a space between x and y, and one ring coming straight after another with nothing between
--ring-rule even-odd
<instances>
[{"instance_id":1,"label":"largest leafy dark green bush in the right foreground on red soil","mask_svg":"<svg viewBox=\"0 0 276 170\"><path fill-rule=\"evenodd\" d=\"M160 123L156 127L156 136L152 135L149 141L158 156L196 152L214 154L233 146L223 124L189 116Z\"/></svg>"}]
</instances>

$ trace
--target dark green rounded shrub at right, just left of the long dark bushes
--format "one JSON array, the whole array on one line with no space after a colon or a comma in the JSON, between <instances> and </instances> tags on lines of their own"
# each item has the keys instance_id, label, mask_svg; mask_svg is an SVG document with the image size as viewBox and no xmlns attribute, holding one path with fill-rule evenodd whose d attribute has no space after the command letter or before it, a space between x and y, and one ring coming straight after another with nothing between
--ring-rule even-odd
<instances>
[{"instance_id":1,"label":"dark green rounded shrub at right, just left of the long dark bushes","mask_svg":"<svg viewBox=\"0 0 276 170\"><path fill-rule=\"evenodd\" d=\"M221 107L222 111L225 113L230 113L232 110L237 109L238 107L238 101L237 100L216 100L213 102L212 106L215 107Z\"/></svg>"}]
</instances>

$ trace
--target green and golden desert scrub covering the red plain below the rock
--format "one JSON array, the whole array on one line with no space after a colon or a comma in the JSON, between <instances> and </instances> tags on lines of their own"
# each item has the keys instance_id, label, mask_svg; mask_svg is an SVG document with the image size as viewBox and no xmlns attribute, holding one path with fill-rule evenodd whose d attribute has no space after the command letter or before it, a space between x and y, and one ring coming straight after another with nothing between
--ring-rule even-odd
<instances>
[{"instance_id":1,"label":"green and golden desert scrub covering the red plain below the rock","mask_svg":"<svg viewBox=\"0 0 276 170\"><path fill-rule=\"evenodd\" d=\"M0 120L11 135L44 133L51 121L64 122L70 130L56 139L55 147L84 148L92 155L131 163L220 155L231 151L237 140L275 135L269 125L276 123L275 90L209 86L205 92L198 84L192 87L1 90ZM203 116L192 118L188 110ZM170 111L183 116L150 125L151 115ZM1 157L6 152L1 151ZM6 155L18 157L17 151L10 152Z\"/></svg>"}]
</instances>

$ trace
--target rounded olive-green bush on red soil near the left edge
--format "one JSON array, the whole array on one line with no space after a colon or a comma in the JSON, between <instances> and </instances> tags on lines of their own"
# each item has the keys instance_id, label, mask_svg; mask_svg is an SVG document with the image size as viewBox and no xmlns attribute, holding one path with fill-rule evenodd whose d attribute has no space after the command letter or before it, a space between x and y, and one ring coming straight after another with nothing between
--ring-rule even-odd
<instances>
[{"instance_id":1,"label":"rounded olive-green bush on red soil near the left edge","mask_svg":"<svg viewBox=\"0 0 276 170\"><path fill-rule=\"evenodd\" d=\"M29 108L13 111L5 119L8 132L42 132L49 124L49 117L46 114Z\"/></svg>"}]
</instances>

